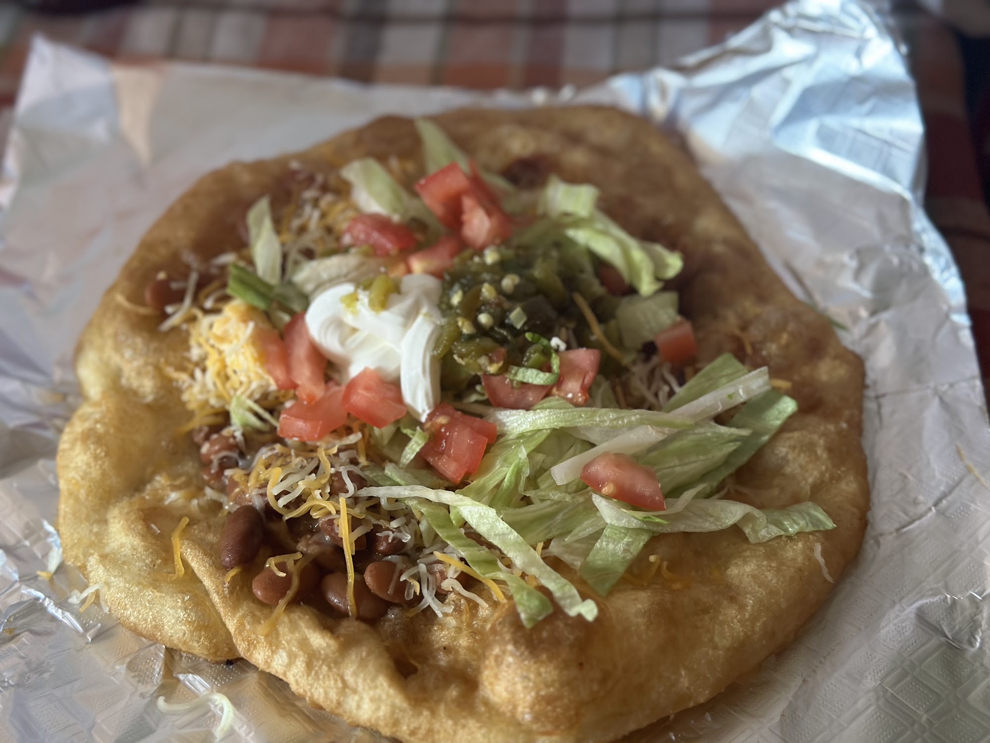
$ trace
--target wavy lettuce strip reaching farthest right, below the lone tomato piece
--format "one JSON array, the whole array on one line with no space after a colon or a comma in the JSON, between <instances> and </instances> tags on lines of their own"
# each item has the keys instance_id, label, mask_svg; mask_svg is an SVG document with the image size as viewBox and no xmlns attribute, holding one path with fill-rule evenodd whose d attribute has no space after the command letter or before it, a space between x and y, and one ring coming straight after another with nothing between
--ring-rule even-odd
<instances>
[{"instance_id":1,"label":"wavy lettuce strip reaching farthest right, below the lone tomato piece","mask_svg":"<svg viewBox=\"0 0 990 743\"><path fill-rule=\"evenodd\" d=\"M754 508L737 500L692 498L678 511L645 513L622 508L618 501L593 494L592 499L606 523L648 529L655 534L708 532L739 526L750 542L801 532L835 529L836 524L818 503L806 501L787 508ZM633 523L630 518L632 517ZM636 524L636 522L639 522Z\"/></svg>"}]
</instances>

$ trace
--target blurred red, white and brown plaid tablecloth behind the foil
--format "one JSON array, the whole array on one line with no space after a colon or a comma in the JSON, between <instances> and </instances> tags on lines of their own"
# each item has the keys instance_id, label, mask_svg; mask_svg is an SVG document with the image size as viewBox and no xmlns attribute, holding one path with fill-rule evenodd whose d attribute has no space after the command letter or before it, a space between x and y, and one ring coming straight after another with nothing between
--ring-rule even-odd
<instances>
[{"instance_id":1,"label":"blurred red, white and brown plaid tablecloth behind the foil","mask_svg":"<svg viewBox=\"0 0 990 743\"><path fill-rule=\"evenodd\" d=\"M475 88L582 85L722 41L775 0L158 0L54 16L0 5L0 106L32 35L128 59L177 58ZM952 32L911 0L893 15L928 125L927 205L955 253L984 385L990 216Z\"/></svg>"}]
</instances>

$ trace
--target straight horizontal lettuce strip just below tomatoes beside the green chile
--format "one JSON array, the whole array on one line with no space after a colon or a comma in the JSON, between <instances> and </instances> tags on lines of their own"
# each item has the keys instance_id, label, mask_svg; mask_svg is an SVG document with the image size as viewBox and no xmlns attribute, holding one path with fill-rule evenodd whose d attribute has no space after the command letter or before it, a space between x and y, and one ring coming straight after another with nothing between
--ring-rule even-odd
<instances>
[{"instance_id":1,"label":"straight horizontal lettuce strip just below tomatoes beside the green chile","mask_svg":"<svg viewBox=\"0 0 990 743\"><path fill-rule=\"evenodd\" d=\"M510 436L542 429L596 426L599 428L626 429L633 426L687 429L692 422L678 415L655 410L624 410L621 408L572 407L534 408L533 410L494 409L486 418L499 432Z\"/></svg>"}]
</instances>

